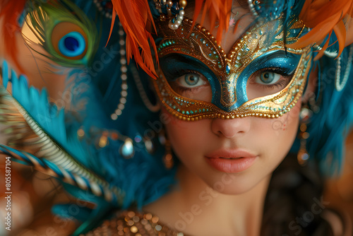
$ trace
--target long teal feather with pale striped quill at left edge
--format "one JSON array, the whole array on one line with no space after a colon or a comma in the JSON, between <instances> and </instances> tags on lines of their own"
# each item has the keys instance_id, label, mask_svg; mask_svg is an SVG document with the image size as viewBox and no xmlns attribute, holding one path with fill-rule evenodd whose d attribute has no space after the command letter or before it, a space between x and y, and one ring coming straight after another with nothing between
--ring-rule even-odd
<instances>
[{"instance_id":1,"label":"long teal feather with pale striped quill at left edge","mask_svg":"<svg viewBox=\"0 0 353 236\"><path fill-rule=\"evenodd\" d=\"M90 155L77 138L66 134L64 110L49 106L45 90L40 93L35 88L28 88L27 79L17 77L6 61L1 71L0 80L4 85L11 82L12 95L0 85L0 122L6 125L4 133L9 135L8 146L0 145L0 150L41 172L121 206L124 199L121 189L111 186L68 153L70 150L75 155ZM56 139L52 138L54 135Z\"/></svg>"}]
</instances>

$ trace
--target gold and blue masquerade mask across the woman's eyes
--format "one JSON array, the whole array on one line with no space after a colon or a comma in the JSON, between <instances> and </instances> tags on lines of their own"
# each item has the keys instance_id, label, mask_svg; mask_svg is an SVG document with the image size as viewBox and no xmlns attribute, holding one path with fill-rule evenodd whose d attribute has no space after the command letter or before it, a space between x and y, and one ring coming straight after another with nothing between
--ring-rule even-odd
<instances>
[{"instance_id":1,"label":"gold and blue masquerade mask across the woman's eyes","mask_svg":"<svg viewBox=\"0 0 353 236\"><path fill-rule=\"evenodd\" d=\"M184 19L177 30L160 17L160 78L153 83L164 107L179 119L276 118L301 98L311 66L310 47L285 49L281 18L254 25L228 54L213 35ZM286 43L306 30L292 20Z\"/></svg>"}]
</instances>

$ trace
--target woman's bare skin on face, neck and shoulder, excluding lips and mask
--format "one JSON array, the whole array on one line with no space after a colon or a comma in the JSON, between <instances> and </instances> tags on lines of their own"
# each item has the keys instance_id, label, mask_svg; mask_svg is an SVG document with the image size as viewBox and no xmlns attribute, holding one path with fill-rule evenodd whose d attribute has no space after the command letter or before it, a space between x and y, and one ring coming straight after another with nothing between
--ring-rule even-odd
<instances>
[{"instance_id":1,"label":"woman's bare skin on face, neck and shoulder, excluding lips and mask","mask_svg":"<svg viewBox=\"0 0 353 236\"><path fill-rule=\"evenodd\" d=\"M237 3L234 8L244 18L235 32L230 28L223 35L221 46L225 52L229 52L252 21L248 10ZM309 80L315 81L315 75L311 73ZM314 84L309 83L307 93L312 94ZM301 102L300 99L291 112L277 119L245 117L184 122L162 109L162 117L167 117L164 119L167 135L181 160L179 185L144 211L156 214L170 228L186 235L260 235L270 177L297 136ZM220 172L205 158L220 149L246 150L257 158L242 172Z\"/></svg>"}]
</instances>

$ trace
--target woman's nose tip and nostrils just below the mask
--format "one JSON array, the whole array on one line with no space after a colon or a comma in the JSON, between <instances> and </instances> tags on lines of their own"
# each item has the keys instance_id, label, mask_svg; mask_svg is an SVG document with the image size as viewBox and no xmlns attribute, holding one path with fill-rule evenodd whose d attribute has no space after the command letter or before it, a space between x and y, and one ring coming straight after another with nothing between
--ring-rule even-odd
<instances>
[{"instance_id":1,"label":"woman's nose tip and nostrils just below the mask","mask_svg":"<svg viewBox=\"0 0 353 236\"><path fill-rule=\"evenodd\" d=\"M220 119L215 118L211 122L211 130L217 136L234 138L241 134L246 134L250 129L251 117Z\"/></svg>"}]
</instances>

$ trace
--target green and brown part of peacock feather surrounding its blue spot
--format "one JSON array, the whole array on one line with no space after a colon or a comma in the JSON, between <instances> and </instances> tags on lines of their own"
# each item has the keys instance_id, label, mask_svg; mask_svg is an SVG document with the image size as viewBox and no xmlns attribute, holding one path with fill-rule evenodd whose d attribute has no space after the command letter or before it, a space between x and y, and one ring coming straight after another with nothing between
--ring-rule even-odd
<instances>
[{"instance_id":1,"label":"green and brown part of peacock feather surrounding its blue spot","mask_svg":"<svg viewBox=\"0 0 353 236\"><path fill-rule=\"evenodd\" d=\"M31 43L34 43L33 40L30 40L29 37L24 35L25 40L35 52L65 67L90 64L97 51L99 42L97 28L95 27L95 23L93 23L78 6L68 0L32 0L28 2L27 12L26 23L28 27L49 55L33 49L31 46ZM61 23L72 23L83 30L87 41L85 53L82 54L84 57L71 59L63 57L63 55L58 52L58 49L56 49L58 42L53 40L57 37L54 28ZM67 33L69 33L70 27L68 27L67 30ZM53 45L53 41L56 45Z\"/></svg>"}]
</instances>

